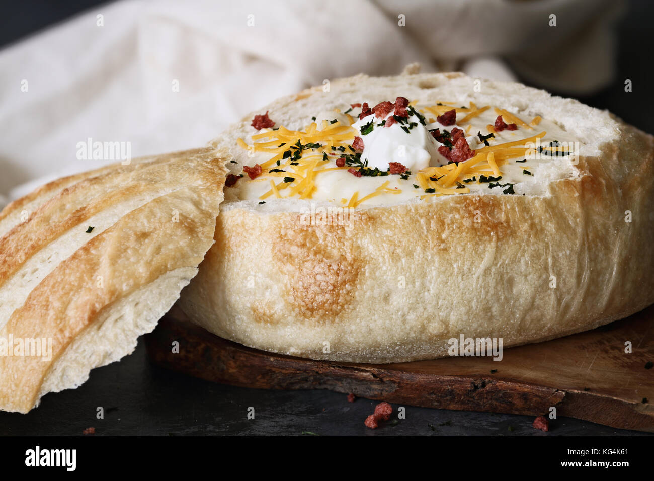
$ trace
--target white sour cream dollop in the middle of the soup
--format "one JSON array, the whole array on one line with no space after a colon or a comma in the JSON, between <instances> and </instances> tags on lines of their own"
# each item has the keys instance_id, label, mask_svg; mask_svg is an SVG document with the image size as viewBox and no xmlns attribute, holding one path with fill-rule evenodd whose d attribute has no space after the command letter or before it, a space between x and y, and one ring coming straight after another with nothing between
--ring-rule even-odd
<instances>
[{"instance_id":1,"label":"white sour cream dollop in the middle of the soup","mask_svg":"<svg viewBox=\"0 0 654 481\"><path fill-rule=\"evenodd\" d=\"M430 165L447 164L447 159L438 153L439 143L415 114L409 115L404 123L396 122L390 127L381 125L392 116L392 111L385 118L376 118L375 114L371 114L352 124L358 132L357 135L364 141L361 160L367 160L368 167L388 170L389 162L399 162L410 171L416 172ZM361 134L361 128L370 122L373 122L371 132Z\"/></svg>"}]
</instances>

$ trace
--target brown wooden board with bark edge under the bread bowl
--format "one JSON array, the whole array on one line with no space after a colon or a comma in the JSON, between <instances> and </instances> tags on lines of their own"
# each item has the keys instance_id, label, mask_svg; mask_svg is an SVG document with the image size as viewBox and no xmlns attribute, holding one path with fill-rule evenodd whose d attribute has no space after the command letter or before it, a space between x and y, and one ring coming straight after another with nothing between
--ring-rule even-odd
<instances>
[{"instance_id":1,"label":"brown wooden board with bark edge under the bread bowl","mask_svg":"<svg viewBox=\"0 0 654 481\"><path fill-rule=\"evenodd\" d=\"M441 409L585 419L654 432L654 306L588 332L490 357L385 365L312 361L250 349L190 323L174 306L146 335L153 363L257 389L330 389ZM174 341L179 353L172 352ZM625 342L632 353L625 353ZM649 366L649 368L647 368ZM496 371L495 371L496 370Z\"/></svg>"}]
</instances>

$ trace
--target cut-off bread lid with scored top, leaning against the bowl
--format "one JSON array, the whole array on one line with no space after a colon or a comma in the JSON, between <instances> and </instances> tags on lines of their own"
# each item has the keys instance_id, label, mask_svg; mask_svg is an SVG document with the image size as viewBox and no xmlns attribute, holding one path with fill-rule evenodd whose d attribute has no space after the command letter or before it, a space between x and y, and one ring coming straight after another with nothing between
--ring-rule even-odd
<instances>
[{"instance_id":1,"label":"cut-off bread lid with scored top, leaning against the bowl","mask_svg":"<svg viewBox=\"0 0 654 481\"><path fill-rule=\"evenodd\" d=\"M213 244L215 149L65 177L0 213L0 409L26 413L133 351Z\"/></svg>"}]
</instances>

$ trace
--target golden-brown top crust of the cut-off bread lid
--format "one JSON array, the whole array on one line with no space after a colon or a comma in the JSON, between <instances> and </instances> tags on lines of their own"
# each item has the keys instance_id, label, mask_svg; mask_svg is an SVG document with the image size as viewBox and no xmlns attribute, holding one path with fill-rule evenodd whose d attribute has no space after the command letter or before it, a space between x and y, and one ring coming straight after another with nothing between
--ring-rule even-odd
<instances>
[{"instance_id":1,"label":"golden-brown top crust of the cut-off bread lid","mask_svg":"<svg viewBox=\"0 0 654 481\"><path fill-rule=\"evenodd\" d=\"M60 188L25 223L0 239L2 290L24 272L22 266L30 258L75 229L84 232L86 220L93 215L101 219L98 213L106 214L110 219L102 232L86 234L89 239L82 238L72 255L44 272L31 291L9 293L25 298L8 319L0 319L0 338L52 339L52 358L44 362L33 355L0 356L0 408L30 410L43 395L41 387L52 367L64 354L70 355L67 349L85 330L106 319L121 300L157 279L171 272L194 272L213 243L226 172L223 160L211 149L146 160L113 166L101 175L78 176L77 183ZM143 195L146 191L149 196ZM120 209L129 198L140 204L124 213ZM118 219L114 222L109 214ZM188 277L184 283L187 281ZM160 304L165 312L179 289L149 294L140 302ZM122 315L129 316L131 311ZM150 319L149 329L157 319ZM86 373L92 367L95 365L87 366ZM71 387L52 380L48 384L56 390Z\"/></svg>"}]
</instances>

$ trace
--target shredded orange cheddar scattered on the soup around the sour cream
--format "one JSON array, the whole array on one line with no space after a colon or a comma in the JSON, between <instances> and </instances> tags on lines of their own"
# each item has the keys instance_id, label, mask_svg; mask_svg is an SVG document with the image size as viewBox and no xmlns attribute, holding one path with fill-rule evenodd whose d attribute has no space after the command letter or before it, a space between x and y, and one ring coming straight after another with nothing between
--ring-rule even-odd
<instances>
[{"instance_id":1,"label":"shredded orange cheddar scattered on the soup around the sour cream","mask_svg":"<svg viewBox=\"0 0 654 481\"><path fill-rule=\"evenodd\" d=\"M409 102L411 108L418 109L417 105L419 101L412 100ZM470 137L475 138L474 132L477 132L477 128L473 128L475 121L470 123L470 120L478 118L480 115L483 120L479 120L475 125L479 125L482 122L491 120L490 112L485 114L490 109L490 105L484 105L478 107L475 103L470 101L469 107L457 107L460 103L455 102L445 102L438 101L434 105L426 105L418 109L422 112L423 115L428 117L428 122L434 123L436 120L434 117L443 115L447 111L455 109L457 113L464 113L455 125L448 126L445 130L444 135L448 134L448 130L460 126L464 128L467 141L470 141ZM494 112L497 115L502 115L504 122L506 123L515 123L519 126L519 130L534 130L534 127L540 124L542 118L540 116L534 117L528 124L519 118L517 115L509 113L506 109L500 109L493 107ZM508 165L509 160L526 158L526 156L533 151L533 146L528 146L530 143L534 143L537 139L542 139L547 132L543 130L536 135L531 135L530 137L524 138L523 135L520 135L518 131L511 131L504 136L497 135L498 132L495 132L494 126L492 124L487 124L486 129L489 133L495 134L494 137L490 135L481 135L479 134L480 141L473 143L470 141L470 149L473 150L472 158L464 160L462 162L450 162L444 165L428 166L419 171L407 171L402 175L397 175L396 173L390 174L390 168L387 172L380 172L379 169L373 169L366 167L366 164L362 162L359 154L354 155L354 149L352 147L354 137L360 135L366 135L363 133L360 134L358 130L354 129L351 125L358 120L356 115L349 115L349 109L346 113L341 114L347 118L347 122L350 125L343 125L341 122L333 120L320 120L320 122L311 122L307 124L304 128L300 130L290 130L284 126L279 126L278 128L266 128L260 130L260 132L251 135L252 143L249 145L244 139L237 139L236 143L241 149L248 151L249 156L250 152L255 152L258 154L263 154L266 160L260 162L260 167L262 168L262 173L255 179L249 179L247 176L242 177L241 182L267 182L270 186L266 192L259 195L262 190L258 190L257 195L261 200L264 200L269 197L273 198L300 198L300 199L311 199L314 194L318 191L317 179L322 178L321 175L324 175L327 172L337 172L337 171L347 171L354 168L354 173L359 175L366 176L389 176L387 179L379 179L380 184L370 192L371 187L368 187L366 190L361 188L356 190L350 198L340 198L340 196L334 196L331 198L332 202L338 202L337 199L340 198L339 202L341 205L349 208L356 208L359 205L362 205L371 199L382 196L386 194L402 194L403 187L406 186L409 188L409 192L414 192L415 196L426 200L429 198L436 198L443 195L453 195L453 194L467 194L471 190L467 185L474 185L478 190L480 183L489 183L495 179L502 178L503 169L513 169L513 175L515 175L517 168L522 168L523 171L532 174L532 168L528 168L523 164L513 164ZM411 110L411 109L409 109ZM336 113L340 113L339 109L334 109ZM341 117L342 118L342 117ZM491 120L492 121L492 120ZM345 122L345 120L343 120ZM415 126L415 124L412 124ZM377 125L377 128L380 126ZM407 130L408 132L408 130ZM472 136L470 135L472 132ZM502 139L511 138L516 136L515 141L508 141L497 143L502 141ZM523 138L519 138L523 137ZM363 137L365 139L365 137ZM447 143L447 138L445 140L437 137L439 143L446 145L447 148L453 149L458 147L453 147ZM489 145L484 145L487 143ZM564 149L559 149L556 145L549 147L545 146L541 149L545 149L550 152L564 152ZM341 166L335 166L334 162L338 158L347 158L347 163L343 165L343 160L341 160ZM455 157L456 158L456 157ZM432 160L434 156L432 154ZM522 162L517 160L516 162ZM424 165L424 164L422 164ZM345 175L351 175L351 173L344 173ZM341 175L341 174L334 174ZM484 179L484 177L491 177L491 181ZM327 176L328 177L328 176ZM332 175L333 177L333 175ZM334 177L337 178L337 177ZM402 179L402 180L401 180ZM393 181L393 186L390 186L390 182ZM405 183L403 183L405 182ZM498 181L496 185L492 187L505 187L509 185L509 189L513 194L512 186L513 183L504 183ZM467 185L466 185L467 184ZM260 184L257 184L260 185ZM319 184L320 185L320 184ZM362 185L371 185L370 183L362 183ZM376 184L373 184L373 186ZM413 187L411 187L413 185ZM267 186L264 184L264 188ZM398 186L398 187L395 187ZM491 187L489 185L489 187ZM320 196L324 196L324 189L319 191ZM350 190L351 192L351 190ZM507 192L504 192L507 193ZM330 194L331 195L331 194ZM342 195L342 194L341 194Z\"/></svg>"}]
</instances>

